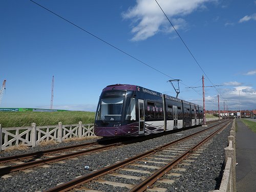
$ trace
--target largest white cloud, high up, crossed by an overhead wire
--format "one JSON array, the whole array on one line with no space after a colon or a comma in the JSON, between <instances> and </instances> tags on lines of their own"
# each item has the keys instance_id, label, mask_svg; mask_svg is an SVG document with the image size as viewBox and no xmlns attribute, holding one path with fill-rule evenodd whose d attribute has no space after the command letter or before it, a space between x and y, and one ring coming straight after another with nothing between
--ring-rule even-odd
<instances>
[{"instance_id":1,"label":"largest white cloud, high up, crossed by an overhead wire","mask_svg":"<svg viewBox=\"0 0 256 192\"><path fill-rule=\"evenodd\" d=\"M203 3L212 0L158 0L165 14L177 28L184 26L184 19L196 9L205 8ZM132 20L133 41L145 40L158 32L173 32L168 20L155 1L137 0L137 4L123 13L123 18Z\"/></svg>"}]
</instances>

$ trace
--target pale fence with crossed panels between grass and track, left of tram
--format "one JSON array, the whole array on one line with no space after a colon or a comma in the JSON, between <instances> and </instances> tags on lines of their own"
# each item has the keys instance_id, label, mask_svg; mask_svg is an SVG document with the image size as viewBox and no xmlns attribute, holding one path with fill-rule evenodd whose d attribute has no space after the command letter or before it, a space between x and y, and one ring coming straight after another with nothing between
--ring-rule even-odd
<instances>
[{"instance_id":1,"label":"pale fence with crossed panels between grass and track, left of tram","mask_svg":"<svg viewBox=\"0 0 256 192\"><path fill-rule=\"evenodd\" d=\"M31 126L23 127L8 127L2 128L0 124L0 151L6 148L25 144L27 146L36 146L40 141L55 140L62 142L64 139L72 137L87 137L94 136L93 124L78 124L48 126L36 126L32 123Z\"/></svg>"}]
</instances>

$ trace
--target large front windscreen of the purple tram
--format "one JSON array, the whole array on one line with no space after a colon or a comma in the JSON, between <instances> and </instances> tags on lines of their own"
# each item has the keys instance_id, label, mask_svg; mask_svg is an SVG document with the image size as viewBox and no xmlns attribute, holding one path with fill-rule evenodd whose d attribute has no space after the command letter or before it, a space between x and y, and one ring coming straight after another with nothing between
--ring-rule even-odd
<instances>
[{"instance_id":1,"label":"large front windscreen of the purple tram","mask_svg":"<svg viewBox=\"0 0 256 192\"><path fill-rule=\"evenodd\" d=\"M96 120L121 121L124 97L102 98Z\"/></svg>"}]
</instances>

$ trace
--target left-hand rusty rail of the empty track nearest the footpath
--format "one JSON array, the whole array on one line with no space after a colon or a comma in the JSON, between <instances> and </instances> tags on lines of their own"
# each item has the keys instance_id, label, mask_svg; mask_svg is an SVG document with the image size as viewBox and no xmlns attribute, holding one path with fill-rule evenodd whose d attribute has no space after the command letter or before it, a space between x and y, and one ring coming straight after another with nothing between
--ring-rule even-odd
<instances>
[{"instance_id":1,"label":"left-hand rusty rail of the empty track nearest the footpath","mask_svg":"<svg viewBox=\"0 0 256 192\"><path fill-rule=\"evenodd\" d=\"M219 124L222 124L222 123L223 123L223 122L221 122L221 123L219 123ZM121 168L121 167L124 167L124 166L127 165L127 164L130 164L130 163L133 163L134 161L137 161L138 159L147 157L148 155L151 155L151 154L154 154L154 153L156 153L156 152L158 152L158 151L161 151L161 150L163 150L163 148L166 148L166 147L168 147L168 146L170 146L170 145L173 145L173 144L175 144L175 143L181 142L181 141L186 140L186 139L188 139L188 138L190 138L190 137L193 137L193 136L198 135L198 134L200 134L200 133L202 133L202 132L205 132L205 131L207 131L207 130L209 130L209 129L212 129L213 127L215 127L215 126L217 126L217 125L219 125L219 124L212 125L212 126L208 127L208 128L205 129L205 130L202 130L202 131L199 131L199 132L194 133L194 134L192 134L192 135L183 137L183 138L178 139L178 140L176 140L176 141L173 141L173 142L164 144L164 145L162 145L162 146L160 146L160 147L154 148L153 150L144 152L144 153L142 153L142 154L139 154L139 155L137 155L137 156L131 157L131 158L129 158L129 159L125 159L125 160L122 161L122 162L118 162L118 163L115 163L115 164L113 164L113 165L110 165L110 166L107 166L107 167L103 167L103 168L101 168L101 169L99 169L99 170L96 170L95 172L90 173L90 174L88 174L88 175L81 176L81 177L79 177L79 178L77 178L77 179L74 179L74 180L72 180L72 181L68 181L68 182L66 182L66 183L63 183L63 184L57 185L57 186L55 186L55 187L52 187L52 188L50 188L50 189L48 189L48 190L45 190L45 192L54 192L54 191L61 191L61 192L63 192L63 191L71 190L71 189L73 189L74 187L76 187L76 186L78 186L78 185L82 185L82 184L87 183L87 182L89 182L89 181L92 181L92 180L94 180L94 179L96 179L96 178L98 178L98 177L101 177L101 176L103 176L103 175L105 175L105 174L111 173L111 172L115 171L116 169L119 169L119 168Z\"/></svg>"}]
</instances>

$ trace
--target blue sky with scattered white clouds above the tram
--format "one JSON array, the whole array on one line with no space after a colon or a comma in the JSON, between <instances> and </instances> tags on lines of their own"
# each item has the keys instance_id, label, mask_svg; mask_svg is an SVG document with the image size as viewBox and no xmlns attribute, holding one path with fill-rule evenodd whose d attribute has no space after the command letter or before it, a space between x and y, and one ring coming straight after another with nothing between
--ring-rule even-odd
<instances>
[{"instance_id":1,"label":"blue sky with scattered white clouds above the tram","mask_svg":"<svg viewBox=\"0 0 256 192\"><path fill-rule=\"evenodd\" d=\"M179 98L206 110L256 109L256 1L158 0L187 51L153 0L39 1L138 60L105 44L29 0L0 1L0 108L96 111L109 84L135 84L176 96L166 81L181 79ZM208 78L207 78L207 77Z\"/></svg>"}]
</instances>

